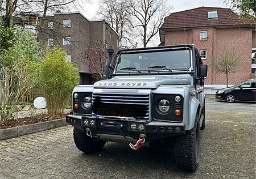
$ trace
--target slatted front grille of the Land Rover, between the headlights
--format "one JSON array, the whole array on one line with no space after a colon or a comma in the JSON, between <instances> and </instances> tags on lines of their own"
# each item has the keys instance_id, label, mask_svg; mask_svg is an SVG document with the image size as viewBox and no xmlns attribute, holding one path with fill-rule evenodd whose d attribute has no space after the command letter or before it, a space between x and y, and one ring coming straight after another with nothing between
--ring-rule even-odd
<instances>
[{"instance_id":1,"label":"slatted front grille of the Land Rover, between the headlights","mask_svg":"<svg viewBox=\"0 0 256 179\"><path fill-rule=\"evenodd\" d=\"M93 110L130 109L138 120L149 119L149 95L147 93L93 93ZM110 115L111 116L111 115ZM118 117L118 116L117 116Z\"/></svg>"}]
</instances>

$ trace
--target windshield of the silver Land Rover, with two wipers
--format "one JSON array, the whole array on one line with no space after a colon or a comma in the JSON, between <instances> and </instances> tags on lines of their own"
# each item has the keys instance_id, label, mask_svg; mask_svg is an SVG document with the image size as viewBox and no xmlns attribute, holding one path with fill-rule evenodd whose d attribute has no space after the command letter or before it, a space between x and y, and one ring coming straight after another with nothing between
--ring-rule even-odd
<instances>
[{"instance_id":1,"label":"windshield of the silver Land Rover, with two wipers","mask_svg":"<svg viewBox=\"0 0 256 179\"><path fill-rule=\"evenodd\" d=\"M188 70L191 67L190 50L163 52L123 53L116 71Z\"/></svg>"}]
</instances>

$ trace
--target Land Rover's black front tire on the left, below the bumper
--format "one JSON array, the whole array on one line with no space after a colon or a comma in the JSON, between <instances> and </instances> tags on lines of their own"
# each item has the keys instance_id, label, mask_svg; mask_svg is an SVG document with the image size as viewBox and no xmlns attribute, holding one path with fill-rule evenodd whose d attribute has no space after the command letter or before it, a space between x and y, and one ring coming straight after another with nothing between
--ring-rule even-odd
<instances>
[{"instance_id":1,"label":"Land Rover's black front tire on the left, below the bumper","mask_svg":"<svg viewBox=\"0 0 256 179\"><path fill-rule=\"evenodd\" d=\"M104 140L97 141L76 128L74 128L73 136L76 147L85 154L94 154L102 150L106 143Z\"/></svg>"}]
</instances>

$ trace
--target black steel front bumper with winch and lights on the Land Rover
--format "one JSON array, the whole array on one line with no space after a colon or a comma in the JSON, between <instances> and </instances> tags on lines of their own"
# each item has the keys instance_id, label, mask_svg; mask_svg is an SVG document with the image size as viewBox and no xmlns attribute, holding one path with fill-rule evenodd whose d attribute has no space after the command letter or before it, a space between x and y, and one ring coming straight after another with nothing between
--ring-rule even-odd
<instances>
[{"instance_id":1,"label":"black steel front bumper with winch and lights on the Land Rover","mask_svg":"<svg viewBox=\"0 0 256 179\"><path fill-rule=\"evenodd\" d=\"M77 115L68 115L66 122L82 131L89 128L93 136L97 136L98 134L122 135L118 127L123 131L123 134L133 139L139 139L140 134L145 134L147 140L185 134L185 125L183 123L148 122L146 120L134 120L133 118L117 120L113 118ZM131 125L134 124L137 126L135 130L131 129ZM141 125L143 125L143 130L138 127Z\"/></svg>"}]
</instances>

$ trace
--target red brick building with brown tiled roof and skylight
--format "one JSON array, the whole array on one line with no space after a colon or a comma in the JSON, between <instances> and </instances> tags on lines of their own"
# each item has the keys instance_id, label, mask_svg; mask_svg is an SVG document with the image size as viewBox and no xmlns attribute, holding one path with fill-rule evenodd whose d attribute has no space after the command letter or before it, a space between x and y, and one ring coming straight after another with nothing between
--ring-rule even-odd
<instances>
[{"instance_id":1,"label":"red brick building with brown tiled roof and skylight","mask_svg":"<svg viewBox=\"0 0 256 179\"><path fill-rule=\"evenodd\" d=\"M236 73L229 75L229 84L250 79L255 73L255 26L249 19L241 23L229 8L199 7L172 13L159 32L160 45L196 45L208 65L206 84L226 83L225 74L213 70L212 61L227 50L235 50L240 60Z\"/></svg>"}]
</instances>

